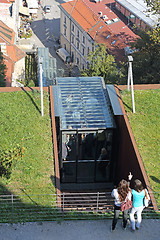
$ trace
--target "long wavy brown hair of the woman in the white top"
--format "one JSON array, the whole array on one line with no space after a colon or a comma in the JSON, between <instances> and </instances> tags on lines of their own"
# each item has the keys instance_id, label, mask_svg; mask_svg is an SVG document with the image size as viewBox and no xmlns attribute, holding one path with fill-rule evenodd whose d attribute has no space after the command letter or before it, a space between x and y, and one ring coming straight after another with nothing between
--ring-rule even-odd
<instances>
[{"instance_id":1,"label":"long wavy brown hair of the woman in the white top","mask_svg":"<svg viewBox=\"0 0 160 240\"><path fill-rule=\"evenodd\" d=\"M118 185L117 190L119 194L119 200L120 202L123 202L126 199L128 192L130 191L128 182L122 179Z\"/></svg>"}]
</instances>

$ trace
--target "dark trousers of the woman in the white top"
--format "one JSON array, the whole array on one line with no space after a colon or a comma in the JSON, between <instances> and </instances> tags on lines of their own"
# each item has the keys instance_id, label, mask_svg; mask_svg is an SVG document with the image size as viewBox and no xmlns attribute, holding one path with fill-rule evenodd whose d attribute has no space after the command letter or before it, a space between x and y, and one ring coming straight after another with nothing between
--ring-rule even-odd
<instances>
[{"instance_id":1,"label":"dark trousers of the woman in the white top","mask_svg":"<svg viewBox=\"0 0 160 240\"><path fill-rule=\"evenodd\" d=\"M121 211L121 207L118 207L114 205L114 218L112 221L112 229L114 230L118 221L118 217ZM127 226L127 215L128 215L129 209L123 211L123 227L126 228Z\"/></svg>"}]
</instances>

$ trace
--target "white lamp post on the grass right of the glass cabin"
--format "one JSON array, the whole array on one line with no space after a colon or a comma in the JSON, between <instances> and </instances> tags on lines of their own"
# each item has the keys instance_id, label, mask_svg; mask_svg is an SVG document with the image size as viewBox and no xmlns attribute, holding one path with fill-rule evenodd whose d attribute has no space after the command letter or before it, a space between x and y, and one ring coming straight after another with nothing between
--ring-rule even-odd
<instances>
[{"instance_id":1,"label":"white lamp post on the grass right of the glass cabin","mask_svg":"<svg viewBox=\"0 0 160 240\"><path fill-rule=\"evenodd\" d=\"M133 57L132 56L128 56L128 84L127 85L128 85L128 91L129 91L129 85L131 83L132 107L133 107L133 113L135 113L132 62L133 62Z\"/></svg>"}]
</instances>

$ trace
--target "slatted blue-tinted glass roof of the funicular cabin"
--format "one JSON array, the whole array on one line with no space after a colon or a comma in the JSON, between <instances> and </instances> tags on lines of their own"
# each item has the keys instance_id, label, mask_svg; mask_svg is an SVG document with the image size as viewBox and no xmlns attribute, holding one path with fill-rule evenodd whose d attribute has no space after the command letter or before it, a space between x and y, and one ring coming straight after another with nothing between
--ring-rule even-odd
<instances>
[{"instance_id":1,"label":"slatted blue-tinted glass roof of the funicular cabin","mask_svg":"<svg viewBox=\"0 0 160 240\"><path fill-rule=\"evenodd\" d=\"M103 78L57 78L53 96L61 130L115 127Z\"/></svg>"}]
</instances>

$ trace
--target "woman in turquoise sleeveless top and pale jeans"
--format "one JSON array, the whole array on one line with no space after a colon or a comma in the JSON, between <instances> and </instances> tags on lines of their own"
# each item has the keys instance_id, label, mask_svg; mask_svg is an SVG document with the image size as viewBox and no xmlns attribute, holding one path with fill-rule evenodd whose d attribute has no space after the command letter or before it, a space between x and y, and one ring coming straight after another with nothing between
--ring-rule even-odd
<instances>
[{"instance_id":1,"label":"woman in turquoise sleeveless top and pale jeans","mask_svg":"<svg viewBox=\"0 0 160 240\"><path fill-rule=\"evenodd\" d=\"M144 189L142 182L138 179L134 181L134 189L132 189L132 196L133 196L133 208L129 214L130 221L131 221L131 228L134 232L136 229L140 228L142 222L142 211L144 209L144 197L145 191L147 194L148 199L150 199L149 194L146 189ZM135 223L135 213L137 214L137 223Z\"/></svg>"}]
</instances>

